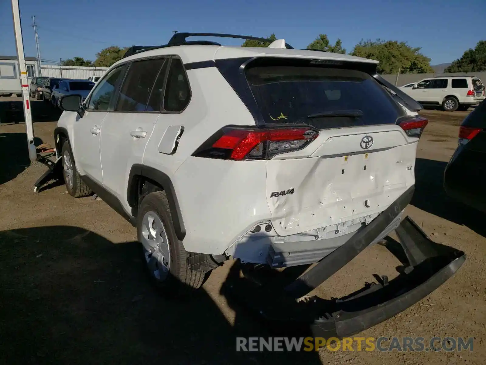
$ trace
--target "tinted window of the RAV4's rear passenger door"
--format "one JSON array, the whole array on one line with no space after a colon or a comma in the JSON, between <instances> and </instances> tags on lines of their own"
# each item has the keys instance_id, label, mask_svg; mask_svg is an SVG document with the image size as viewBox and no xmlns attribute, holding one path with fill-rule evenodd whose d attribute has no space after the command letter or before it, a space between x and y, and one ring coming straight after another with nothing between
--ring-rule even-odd
<instances>
[{"instance_id":1,"label":"tinted window of the RAV4's rear passenger door","mask_svg":"<svg viewBox=\"0 0 486 365\"><path fill-rule=\"evenodd\" d=\"M121 85L115 110L160 111L160 104L154 108L148 105L148 101L157 75L165 61L165 58L156 58L133 62Z\"/></svg>"}]
</instances>

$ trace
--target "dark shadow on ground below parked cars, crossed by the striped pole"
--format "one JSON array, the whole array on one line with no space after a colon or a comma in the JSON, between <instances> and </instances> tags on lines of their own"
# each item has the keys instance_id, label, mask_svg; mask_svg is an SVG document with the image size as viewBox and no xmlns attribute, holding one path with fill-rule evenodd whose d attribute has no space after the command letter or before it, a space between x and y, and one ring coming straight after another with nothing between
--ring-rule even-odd
<instances>
[{"instance_id":1,"label":"dark shadow on ground below parked cars, crossed by the striped pole","mask_svg":"<svg viewBox=\"0 0 486 365\"><path fill-rule=\"evenodd\" d=\"M25 122L22 101L1 101L0 122L20 123ZM30 108L33 122L52 122L59 120L62 110L54 108L51 102L44 100L30 100Z\"/></svg>"}]
</instances>

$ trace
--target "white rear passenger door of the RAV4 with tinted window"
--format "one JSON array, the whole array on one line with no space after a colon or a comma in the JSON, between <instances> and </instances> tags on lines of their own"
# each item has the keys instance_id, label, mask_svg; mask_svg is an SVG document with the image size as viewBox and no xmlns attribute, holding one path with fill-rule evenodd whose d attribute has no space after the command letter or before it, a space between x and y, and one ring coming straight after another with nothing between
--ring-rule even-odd
<instances>
[{"instance_id":1,"label":"white rear passenger door of the RAV4 with tinted window","mask_svg":"<svg viewBox=\"0 0 486 365\"><path fill-rule=\"evenodd\" d=\"M103 185L128 212L130 207L126 197L130 170L134 164L143 163L145 146L160 116L168 63L169 58L132 62L120 87L114 110L103 121Z\"/></svg>"}]
</instances>

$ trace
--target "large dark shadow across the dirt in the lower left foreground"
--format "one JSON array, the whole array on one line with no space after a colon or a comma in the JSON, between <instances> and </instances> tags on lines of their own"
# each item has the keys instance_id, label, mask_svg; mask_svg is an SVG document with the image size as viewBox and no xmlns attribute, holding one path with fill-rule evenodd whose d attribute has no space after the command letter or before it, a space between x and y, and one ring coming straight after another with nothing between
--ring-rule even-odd
<instances>
[{"instance_id":1,"label":"large dark shadow across the dirt in the lower left foreground","mask_svg":"<svg viewBox=\"0 0 486 365\"><path fill-rule=\"evenodd\" d=\"M207 292L168 300L136 242L52 226L0 232L0 363L321 364L318 353L236 352L236 336L271 336Z\"/></svg>"}]
</instances>

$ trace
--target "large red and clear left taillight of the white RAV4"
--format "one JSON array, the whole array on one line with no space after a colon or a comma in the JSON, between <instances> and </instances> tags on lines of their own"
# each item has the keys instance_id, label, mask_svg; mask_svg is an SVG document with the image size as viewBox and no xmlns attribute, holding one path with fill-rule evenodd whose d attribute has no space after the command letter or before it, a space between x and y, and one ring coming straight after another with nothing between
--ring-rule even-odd
<instances>
[{"instance_id":1,"label":"large red and clear left taillight of the white RAV4","mask_svg":"<svg viewBox=\"0 0 486 365\"><path fill-rule=\"evenodd\" d=\"M319 131L308 127L225 127L192 155L228 160L265 160L308 146Z\"/></svg>"}]
</instances>

